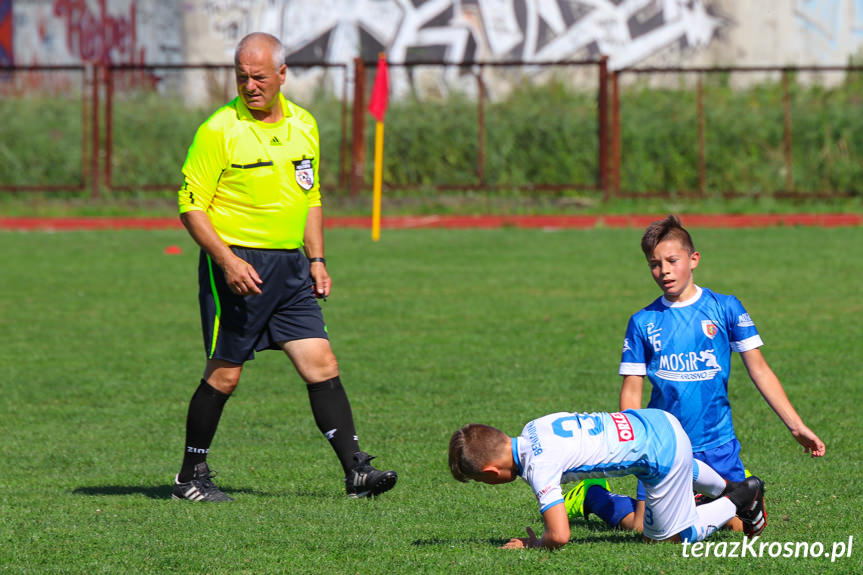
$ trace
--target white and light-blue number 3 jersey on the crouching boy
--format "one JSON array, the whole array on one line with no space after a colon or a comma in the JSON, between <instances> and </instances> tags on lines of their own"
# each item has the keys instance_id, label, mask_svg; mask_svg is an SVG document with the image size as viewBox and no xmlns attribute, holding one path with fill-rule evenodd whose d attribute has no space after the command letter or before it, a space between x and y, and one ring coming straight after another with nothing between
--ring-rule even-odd
<instances>
[{"instance_id":1,"label":"white and light-blue number 3 jersey on the crouching boy","mask_svg":"<svg viewBox=\"0 0 863 575\"><path fill-rule=\"evenodd\" d=\"M669 415L656 409L561 412L528 422L512 439L512 455L544 513L563 503L563 483L635 475L656 486L675 464L678 440Z\"/></svg>"}]
</instances>

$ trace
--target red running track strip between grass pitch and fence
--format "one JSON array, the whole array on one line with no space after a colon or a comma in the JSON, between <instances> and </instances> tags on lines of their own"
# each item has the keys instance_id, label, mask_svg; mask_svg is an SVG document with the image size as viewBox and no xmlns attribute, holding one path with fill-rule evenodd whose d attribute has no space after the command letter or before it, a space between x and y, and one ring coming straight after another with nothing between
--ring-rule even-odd
<instances>
[{"instance_id":1,"label":"red running track strip between grass pitch and fence","mask_svg":"<svg viewBox=\"0 0 863 575\"><path fill-rule=\"evenodd\" d=\"M500 227L539 229L644 228L663 215L597 216L389 216L382 229ZM818 226L825 228L863 225L863 214L684 214L681 221L693 228L761 228L772 226ZM371 228L368 216L326 216L327 228ZM179 218L8 218L0 217L5 230L161 230L181 228Z\"/></svg>"}]
</instances>

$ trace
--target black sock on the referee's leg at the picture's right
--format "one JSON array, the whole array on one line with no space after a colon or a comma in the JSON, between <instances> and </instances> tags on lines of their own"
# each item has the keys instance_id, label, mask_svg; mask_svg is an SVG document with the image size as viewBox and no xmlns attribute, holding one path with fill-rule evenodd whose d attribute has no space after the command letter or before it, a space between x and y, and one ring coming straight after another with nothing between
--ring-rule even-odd
<instances>
[{"instance_id":1,"label":"black sock on the referee's leg at the picture's right","mask_svg":"<svg viewBox=\"0 0 863 575\"><path fill-rule=\"evenodd\" d=\"M354 453L360 450L351 403L339 376L308 386L309 402L318 429L329 439L345 470L354 466Z\"/></svg>"}]
</instances>

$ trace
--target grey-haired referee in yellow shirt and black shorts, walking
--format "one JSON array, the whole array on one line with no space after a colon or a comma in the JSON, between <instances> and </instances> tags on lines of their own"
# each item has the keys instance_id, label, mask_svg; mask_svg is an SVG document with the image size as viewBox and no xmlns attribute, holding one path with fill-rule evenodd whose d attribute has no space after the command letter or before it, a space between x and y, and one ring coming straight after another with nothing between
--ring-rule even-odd
<instances>
[{"instance_id":1,"label":"grey-haired referee in yellow shirt and black shorts, walking","mask_svg":"<svg viewBox=\"0 0 863 575\"><path fill-rule=\"evenodd\" d=\"M239 96L195 134L183 165L180 219L201 246L199 299L207 363L189 403L186 450L173 497L233 501L213 484L207 453L243 364L281 349L307 383L315 422L339 458L349 497L392 489L360 451L316 298L330 294L324 260L315 119L281 93L278 39L243 38L234 55Z\"/></svg>"}]
</instances>

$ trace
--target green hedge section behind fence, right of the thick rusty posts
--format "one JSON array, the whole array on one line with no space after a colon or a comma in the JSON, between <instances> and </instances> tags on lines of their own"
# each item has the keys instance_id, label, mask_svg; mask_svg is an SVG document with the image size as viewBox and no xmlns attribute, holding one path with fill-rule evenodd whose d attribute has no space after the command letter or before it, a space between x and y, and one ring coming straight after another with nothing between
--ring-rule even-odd
<instances>
[{"instance_id":1,"label":"green hedge section behind fence, right of the thick rusty posts","mask_svg":"<svg viewBox=\"0 0 863 575\"><path fill-rule=\"evenodd\" d=\"M827 88L791 83L792 187L860 195L860 82ZM733 89L723 77L703 88L705 190L753 194L786 188L780 83ZM621 188L697 190L698 118L692 90L634 87L621 96Z\"/></svg>"}]
</instances>

